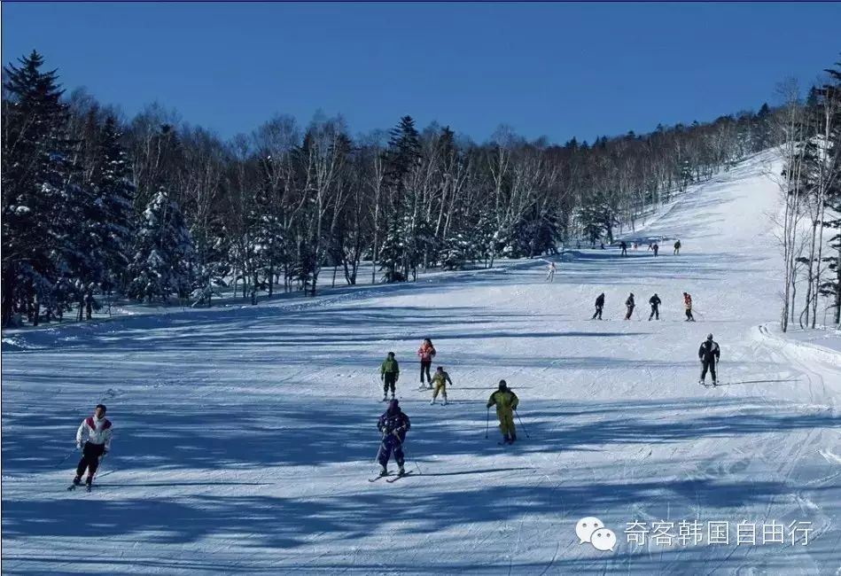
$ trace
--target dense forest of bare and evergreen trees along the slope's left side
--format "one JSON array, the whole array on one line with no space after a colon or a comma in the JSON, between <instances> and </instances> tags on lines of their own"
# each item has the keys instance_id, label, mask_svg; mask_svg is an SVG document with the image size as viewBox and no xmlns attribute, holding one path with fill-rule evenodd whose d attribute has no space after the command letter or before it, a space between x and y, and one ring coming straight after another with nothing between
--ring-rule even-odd
<instances>
[{"instance_id":1,"label":"dense forest of bare and evergreen trees along the slope's left side","mask_svg":"<svg viewBox=\"0 0 841 576\"><path fill-rule=\"evenodd\" d=\"M4 71L4 326L90 318L114 296L211 306L227 287L256 304L315 294L323 274L356 284L363 262L370 282L393 283L611 243L690 183L790 139L790 106L766 104L591 144L504 126L477 144L410 116L351 136L321 113L225 141L160 105L125 120L66 95L35 51Z\"/></svg>"}]
</instances>

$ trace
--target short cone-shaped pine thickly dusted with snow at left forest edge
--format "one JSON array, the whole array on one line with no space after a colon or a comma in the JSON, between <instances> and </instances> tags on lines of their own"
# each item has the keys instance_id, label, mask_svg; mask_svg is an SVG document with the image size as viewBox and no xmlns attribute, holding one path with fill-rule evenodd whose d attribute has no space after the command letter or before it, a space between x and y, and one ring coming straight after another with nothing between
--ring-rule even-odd
<instances>
[{"instance_id":1,"label":"short cone-shaped pine thickly dusted with snow at left forest edge","mask_svg":"<svg viewBox=\"0 0 841 576\"><path fill-rule=\"evenodd\" d=\"M146 206L128 266L128 296L166 303L172 293L185 298L191 288L193 246L181 209L160 188Z\"/></svg>"}]
</instances>

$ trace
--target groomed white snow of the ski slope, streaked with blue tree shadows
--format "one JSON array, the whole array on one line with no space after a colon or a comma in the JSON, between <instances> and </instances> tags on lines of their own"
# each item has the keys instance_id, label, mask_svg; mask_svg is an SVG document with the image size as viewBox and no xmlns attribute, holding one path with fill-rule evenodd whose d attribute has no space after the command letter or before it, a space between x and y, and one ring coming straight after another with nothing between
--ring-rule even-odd
<instances>
[{"instance_id":1,"label":"groomed white snow of the ski slope, streaked with blue tree shadows","mask_svg":"<svg viewBox=\"0 0 841 576\"><path fill-rule=\"evenodd\" d=\"M680 237L680 256L672 241L657 259L581 250L558 259L553 284L527 261L14 336L3 573L841 573L841 361L774 333L768 160L699 185L638 233ZM683 321L684 291L697 323ZM599 292L609 321L588 320ZM648 322L654 292L661 320ZM708 332L722 350L714 389L697 384ZM425 336L455 381L446 407L417 391ZM389 350L415 475L369 483ZM512 447L493 413L485 439L500 378L525 424ZM77 455L59 461L97 401L113 454L92 494L67 492ZM587 516L616 533L614 551L580 543ZM661 520L672 545L628 542L628 523ZM681 543L681 521L702 540ZM727 544L709 541L709 522L729 523ZM736 544L740 523L754 544L747 527ZM782 544L763 533L773 525ZM798 527L806 545L803 532L791 544Z\"/></svg>"}]
</instances>

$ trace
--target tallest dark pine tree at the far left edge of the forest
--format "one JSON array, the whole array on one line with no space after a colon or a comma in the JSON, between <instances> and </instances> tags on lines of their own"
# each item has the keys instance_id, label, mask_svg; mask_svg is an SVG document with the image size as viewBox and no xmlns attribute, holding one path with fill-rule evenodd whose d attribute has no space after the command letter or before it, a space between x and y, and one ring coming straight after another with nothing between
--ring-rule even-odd
<instances>
[{"instance_id":1,"label":"tallest dark pine tree at the far left edge of the forest","mask_svg":"<svg viewBox=\"0 0 841 576\"><path fill-rule=\"evenodd\" d=\"M74 229L83 191L74 180L68 113L55 70L43 72L43 57L33 51L19 66L4 67L3 113L3 303L2 322L15 311L37 324L42 303L48 314L67 305L55 292L64 276L90 265Z\"/></svg>"}]
</instances>

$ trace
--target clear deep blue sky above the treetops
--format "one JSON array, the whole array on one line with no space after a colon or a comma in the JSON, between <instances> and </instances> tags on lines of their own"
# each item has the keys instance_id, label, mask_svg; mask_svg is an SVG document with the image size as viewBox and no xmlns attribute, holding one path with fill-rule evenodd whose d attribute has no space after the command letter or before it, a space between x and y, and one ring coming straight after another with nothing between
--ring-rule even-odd
<instances>
[{"instance_id":1,"label":"clear deep blue sky above the treetops","mask_svg":"<svg viewBox=\"0 0 841 576\"><path fill-rule=\"evenodd\" d=\"M3 4L3 61L220 136L275 113L404 114L484 141L592 141L758 109L841 56L841 4Z\"/></svg>"}]
</instances>

